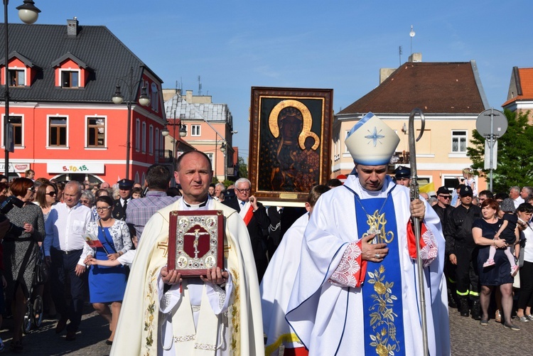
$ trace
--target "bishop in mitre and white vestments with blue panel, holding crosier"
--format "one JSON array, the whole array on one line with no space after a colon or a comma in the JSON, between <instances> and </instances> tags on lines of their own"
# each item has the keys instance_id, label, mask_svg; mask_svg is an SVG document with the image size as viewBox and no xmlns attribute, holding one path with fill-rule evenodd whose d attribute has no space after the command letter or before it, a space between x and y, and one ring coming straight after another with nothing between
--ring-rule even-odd
<instances>
[{"instance_id":1,"label":"bishop in mitre and white vestments with blue panel, holding crosier","mask_svg":"<svg viewBox=\"0 0 533 356\"><path fill-rule=\"evenodd\" d=\"M429 355L449 355L441 223L387 176L399 137L369 113L345 141L355 174L321 196L303 237L286 319L309 355L424 355L416 245L419 217Z\"/></svg>"}]
</instances>

